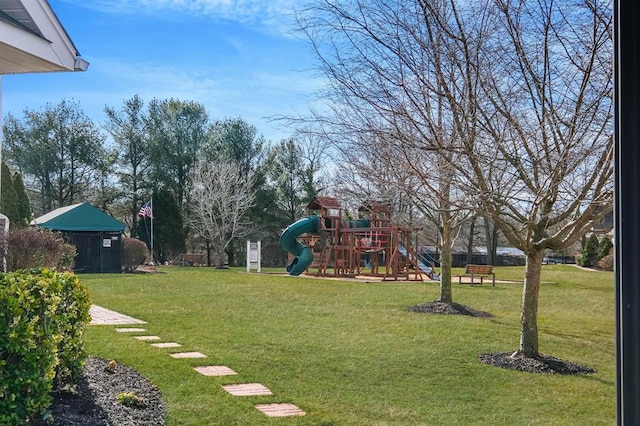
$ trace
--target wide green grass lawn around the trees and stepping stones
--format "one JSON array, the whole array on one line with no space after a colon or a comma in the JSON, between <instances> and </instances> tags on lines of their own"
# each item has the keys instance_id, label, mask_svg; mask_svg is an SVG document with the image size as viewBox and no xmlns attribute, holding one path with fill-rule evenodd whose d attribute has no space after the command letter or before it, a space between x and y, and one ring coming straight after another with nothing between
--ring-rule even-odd
<instances>
[{"instance_id":1,"label":"wide green grass lawn around the trees and stepping stones","mask_svg":"<svg viewBox=\"0 0 640 426\"><path fill-rule=\"evenodd\" d=\"M495 268L522 279L523 268ZM278 270L280 272L281 270ZM459 286L454 301L495 318L412 313L435 283L355 283L165 268L162 274L81 275L97 305L148 321L158 349L115 326L91 326L89 352L127 364L162 392L168 425L610 425L615 423L613 273L545 265L540 351L597 370L534 375L484 365L517 349L522 285ZM457 272L454 271L454 275ZM205 359L173 359L199 351ZM205 377L198 365L237 376ZM273 396L235 397L221 385L260 383ZM307 414L268 418L256 404Z\"/></svg>"}]
</instances>

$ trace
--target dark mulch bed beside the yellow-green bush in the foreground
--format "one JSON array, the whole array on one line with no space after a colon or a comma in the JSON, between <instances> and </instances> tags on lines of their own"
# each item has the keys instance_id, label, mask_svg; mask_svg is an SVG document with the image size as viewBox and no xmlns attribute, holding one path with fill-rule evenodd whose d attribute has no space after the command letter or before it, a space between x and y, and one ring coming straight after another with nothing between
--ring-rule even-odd
<instances>
[{"instance_id":1,"label":"dark mulch bed beside the yellow-green bush in the foreground","mask_svg":"<svg viewBox=\"0 0 640 426\"><path fill-rule=\"evenodd\" d=\"M131 367L93 356L87 358L77 391L54 392L49 409L53 422L42 426L164 425L164 404L153 383Z\"/></svg>"}]
</instances>

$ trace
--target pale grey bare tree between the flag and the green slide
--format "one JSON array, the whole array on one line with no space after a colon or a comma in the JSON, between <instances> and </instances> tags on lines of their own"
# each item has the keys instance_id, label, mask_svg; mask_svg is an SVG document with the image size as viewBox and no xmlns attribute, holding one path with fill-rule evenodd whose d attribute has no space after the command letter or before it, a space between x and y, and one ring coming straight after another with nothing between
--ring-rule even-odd
<instances>
[{"instance_id":1,"label":"pale grey bare tree between the flag and the green slide","mask_svg":"<svg viewBox=\"0 0 640 426\"><path fill-rule=\"evenodd\" d=\"M253 204L252 175L234 161L199 161L193 174L191 222L211 244L218 267L225 264L225 249L249 231L245 213Z\"/></svg>"}]
</instances>

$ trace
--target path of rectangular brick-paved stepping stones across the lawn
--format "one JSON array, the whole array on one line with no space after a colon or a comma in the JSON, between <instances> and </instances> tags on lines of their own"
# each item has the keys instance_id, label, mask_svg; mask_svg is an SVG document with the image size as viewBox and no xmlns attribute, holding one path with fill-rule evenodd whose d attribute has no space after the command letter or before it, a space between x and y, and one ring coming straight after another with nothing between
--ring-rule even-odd
<instances>
[{"instance_id":1,"label":"path of rectangular brick-paved stepping stones across the lawn","mask_svg":"<svg viewBox=\"0 0 640 426\"><path fill-rule=\"evenodd\" d=\"M116 311L111 311L97 305L91 305L89 309L91 315L90 325L128 325L128 324L146 324L146 321L139 320L137 318L123 315ZM144 328L116 328L118 333L144 333ZM134 339L140 341L152 341L160 340L160 336L133 336ZM181 345L176 342L165 343L151 343L151 346L156 348L176 348ZM206 358L205 354L200 352L177 352L170 353L172 358ZM237 374L235 371L224 365L209 365L194 367L198 373L204 376L230 376ZM222 388L234 396L266 396L273 395L273 393L264 385L260 383L243 383L225 385ZM306 413L293 404L258 404L255 406L258 411L263 413L267 417L289 417L289 416L304 416Z\"/></svg>"}]
</instances>

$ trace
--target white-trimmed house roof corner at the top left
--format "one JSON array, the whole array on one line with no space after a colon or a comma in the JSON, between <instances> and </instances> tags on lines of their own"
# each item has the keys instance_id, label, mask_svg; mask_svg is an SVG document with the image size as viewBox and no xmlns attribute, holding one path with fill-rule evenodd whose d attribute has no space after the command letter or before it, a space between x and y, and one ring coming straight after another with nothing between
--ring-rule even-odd
<instances>
[{"instance_id":1,"label":"white-trimmed house roof corner at the top left","mask_svg":"<svg viewBox=\"0 0 640 426\"><path fill-rule=\"evenodd\" d=\"M47 0L0 0L0 75L88 66Z\"/></svg>"}]
</instances>

